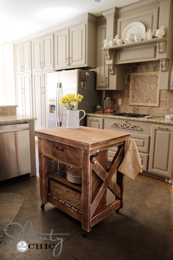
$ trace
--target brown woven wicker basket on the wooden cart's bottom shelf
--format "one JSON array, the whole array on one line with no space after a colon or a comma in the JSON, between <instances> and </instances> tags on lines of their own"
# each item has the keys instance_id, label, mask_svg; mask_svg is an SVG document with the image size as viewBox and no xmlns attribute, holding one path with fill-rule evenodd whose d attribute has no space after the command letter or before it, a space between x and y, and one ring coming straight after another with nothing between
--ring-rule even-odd
<instances>
[{"instance_id":1,"label":"brown woven wicker basket on the wooden cart's bottom shelf","mask_svg":"<svg viewBox=\"0 0 173 260\"><path fill-rule=\"evenodd\" d=\"M82 192L54 179L49 179L49 183L51 196L63 200L72 207L82 211Z\"/></svg>"}]
</instances>

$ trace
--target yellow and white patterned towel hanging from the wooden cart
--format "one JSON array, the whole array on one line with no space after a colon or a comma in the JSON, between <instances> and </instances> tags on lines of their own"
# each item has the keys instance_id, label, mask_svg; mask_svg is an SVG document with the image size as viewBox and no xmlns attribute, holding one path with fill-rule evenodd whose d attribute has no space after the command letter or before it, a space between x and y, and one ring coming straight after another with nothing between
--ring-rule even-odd
<instances>
[{"instance_id":1,"label":"yellow and white patterned towel hanging from the wooden cart","mask_svg":"<svg viewBox=\"0 0 173 260\"><path fill-rule=\"evenodd\" d=\"M125 142L124 158L118 170L132 180L136 178L139 172L142 172L138 148L133 139L128 139Z\"/></svg>"}]
</instances>

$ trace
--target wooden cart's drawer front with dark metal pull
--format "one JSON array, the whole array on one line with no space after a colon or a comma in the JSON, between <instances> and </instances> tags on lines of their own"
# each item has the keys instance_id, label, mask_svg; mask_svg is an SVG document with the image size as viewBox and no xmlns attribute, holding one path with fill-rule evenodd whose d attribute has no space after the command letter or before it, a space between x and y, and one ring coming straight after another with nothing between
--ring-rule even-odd
<instances>
[{"instance_id":1,"label":"wooden cart's drawer front with dark metal pull","mask_svg":"<svg viewBox=\"0 0 173 260\"><path fill-rule=\"evenodd\" d=\"M43 139L43 155L52 160L82 167L82 149Z\"/></svg>"}]
</instances>

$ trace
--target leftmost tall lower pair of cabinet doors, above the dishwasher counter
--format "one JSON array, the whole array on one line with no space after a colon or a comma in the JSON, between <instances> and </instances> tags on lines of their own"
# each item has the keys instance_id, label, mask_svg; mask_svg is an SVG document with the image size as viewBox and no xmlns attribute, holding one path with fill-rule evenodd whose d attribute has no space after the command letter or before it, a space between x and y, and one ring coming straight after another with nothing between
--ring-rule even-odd
<instances>
[{"instance_id":1,"label":"leftmost tall lower pair of cabinet doors, above the dishwasher counter","mask_svg":"<svg viewBox=\"0 0 173 260\"><path fill-rule=\"evenodd\" d=\"M24 117L33 117L31 73L16 75L17 111Z\"/></svg>"}]
</instances>

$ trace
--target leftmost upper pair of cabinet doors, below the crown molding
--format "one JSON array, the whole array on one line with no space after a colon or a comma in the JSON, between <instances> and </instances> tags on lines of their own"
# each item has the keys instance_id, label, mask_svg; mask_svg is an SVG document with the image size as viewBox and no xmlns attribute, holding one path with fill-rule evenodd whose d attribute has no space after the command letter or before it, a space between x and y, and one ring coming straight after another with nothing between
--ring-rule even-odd
<instances>
[{"instance_id":1,"label":"leftmost upper pair of cabinet doors, below the crown molding","mask_svg":"<svg viewBox=\"0 0 173 260\"><path fill-rule=\"evenodd\" d=\"M16 74L31 72L31 42L16 45L14 47L14 55Z\"/></svg>"}]
</instances>

